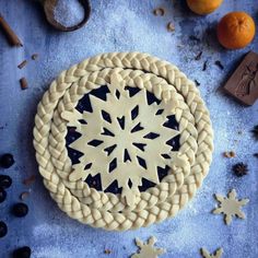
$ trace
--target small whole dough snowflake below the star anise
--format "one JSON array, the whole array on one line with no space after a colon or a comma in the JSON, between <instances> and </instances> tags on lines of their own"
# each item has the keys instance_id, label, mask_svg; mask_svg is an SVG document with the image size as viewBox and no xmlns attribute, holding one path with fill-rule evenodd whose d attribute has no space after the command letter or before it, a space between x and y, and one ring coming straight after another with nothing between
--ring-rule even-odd
<instances>
[{"instance_id":1,"label":"small whole dough snowflake below the star anise","mask_svg":"<svg viewBox=\"0 0 258 258\"><path fill-rule=\"evenodd\" d=\"M230 225L233 216L245 219L244 212L241 208L248 203L248 199L238 200L236 199L235 189L227 194L227 198L221 195L215 195L215 199L220 202L219 207L213 210L214 214L224 214L226 225Z\"/></svg>"}]
</instances>

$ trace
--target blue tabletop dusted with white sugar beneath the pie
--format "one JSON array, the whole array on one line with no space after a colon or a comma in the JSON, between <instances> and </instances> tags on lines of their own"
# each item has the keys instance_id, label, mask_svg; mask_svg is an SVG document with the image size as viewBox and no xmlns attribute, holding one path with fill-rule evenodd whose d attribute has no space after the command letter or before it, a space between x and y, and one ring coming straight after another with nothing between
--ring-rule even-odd
<instances>
[{"instance_id":1,"label":"blue tabletop dusted with white sugar beneath the pie","mask_svg":"<svg viewBox=\"0 0 258 258\"><path fill-rule=\"evenodd\" d=\"M0 220L9 226L8 236L0 239L1 258L9 257L11 250L23 245L32 247L35 258L124 258L137 250L136 236L145 241L151 235L157 237L157 246L167 249L164 258L200 257L202 246L210 251L223 247L225 258L258 257L258 160L253 157L258 142L250 134L250 129L258 124L258 105L242 107L220 90L242 55L249 49L258 51L258 38L244 50L226 51L218 45L213 30L218 20L230 11L247 11L257 22L257 2L224 1L220 10L206 17L190 13L184 2L94 0L89 24L68 34L51 30L45 22L42 8L34 1L0 2L1 13L24 42L23 48L11 48L0 35L0 153L11 152L16 160L13 167L0 171L13 178L8 201L0 204ZM166 9L163 17L152 14L160 5ZM176 27L172 34L166 31L169 21ZM210 34L207 28L211 28ZM192 34L203 40L189 40ZM207 40L210 46L204 43ZM37 173L32 130L36 105L60 71L99 52L128 50L166 59L201 83L201 95L213 121L215 150L202 188L175 219L148 228L113 233L82 225L58 209ZM203 51L202 58L196 61L200 50ZM16 66L33 52L39 54L38 61L30 61L27 67L19 70ZM209 61L206 72L201 71L204 60ZM214 66L215 60L221 60L225 67L223 71ZM19 79L24 75L30 82L27 91L21 91L19 86ZM243 133L238 134L238 131ZM234 150L237 156L223 159L222 152L228 150ZM244 178L236 178L231 173L232 164L239 161L249 165L250 173ZM10 214L10 208L27 189L22 180L32 174L37 175L37 180L26 201L30 214L16 219ZM239 198L248 197L250 202L244 208L247 219L236 219L226 226L222 215L213 215L210 211L216 204L213 194L225 195L231 188L237 190ZM104 254L105 248L112 250L109 256Z\"/></svg>"}]
</instances>

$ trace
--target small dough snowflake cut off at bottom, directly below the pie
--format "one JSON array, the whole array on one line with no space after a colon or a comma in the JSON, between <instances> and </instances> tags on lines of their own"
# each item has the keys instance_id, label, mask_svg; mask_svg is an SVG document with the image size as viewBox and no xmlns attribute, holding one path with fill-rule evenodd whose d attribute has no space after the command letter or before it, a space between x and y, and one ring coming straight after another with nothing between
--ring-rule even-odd
<instances>
[{"instance_id":1,"label":"small dough snowflake cut off at bottom, directly below the pie","mask_svg":"<svg viewBox=\"0 0 258 258\"><path fill-rule=\"evenodd\" d=\"M157 258L157 256L165 254L165 249L154 247L155 243L156 238L154 236L151 236L146 243L136 238L136 244L140 247L140 250L132 255L131 258Z\"/></svg>"}]
</instances>

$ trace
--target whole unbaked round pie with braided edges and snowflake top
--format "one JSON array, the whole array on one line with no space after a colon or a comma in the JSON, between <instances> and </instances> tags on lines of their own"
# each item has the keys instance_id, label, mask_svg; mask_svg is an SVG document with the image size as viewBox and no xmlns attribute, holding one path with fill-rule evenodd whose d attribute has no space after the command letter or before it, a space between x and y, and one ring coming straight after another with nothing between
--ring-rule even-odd
<instances>
[{"instance_id":1,"label":"whole unbaked round pie with braided edges and snowflake top","mask_svg":"<svg viewBox=\"0 0 258 258\"><path fill-rule=\"evenodd\" d=\"M116 231L176 215L208 174L212 140L195 83L140 52L99 55L63 71L34 128L39 172L59 208Z\"/></svg>"}]
</instances>

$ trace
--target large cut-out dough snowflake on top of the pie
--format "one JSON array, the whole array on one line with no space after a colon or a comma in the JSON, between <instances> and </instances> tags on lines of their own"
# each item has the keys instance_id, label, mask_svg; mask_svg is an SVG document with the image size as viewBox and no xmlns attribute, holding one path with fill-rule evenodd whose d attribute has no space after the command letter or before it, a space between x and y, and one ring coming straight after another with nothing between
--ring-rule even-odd
<instances>
[{"instance_id":1,"label":"large cut-out dough snowflake on top of the pie","mask_svg":"<svg viewBox=\"0 0 258 258\"><path fill-rule=\"evenodd\" d=\"M159 184L157 166L179 162L166 142L179 131L165 127L175 103L148 104L145 89L131 95L117 74L110 78L106 101L90 95L93 112L63 112L68 126L81 137L69 146L83 153L72 166L70 179L85 179L101 173L102 188L117 180L121 196L132 206L142 178ZM83 124L80 122L83 120ZM86 167L86 168L85 168Z\"/></svg>"}]
</instances>

